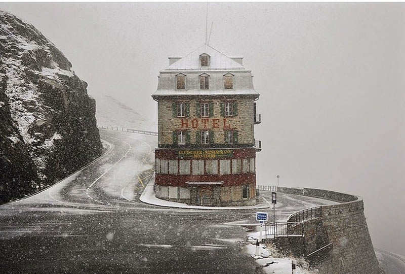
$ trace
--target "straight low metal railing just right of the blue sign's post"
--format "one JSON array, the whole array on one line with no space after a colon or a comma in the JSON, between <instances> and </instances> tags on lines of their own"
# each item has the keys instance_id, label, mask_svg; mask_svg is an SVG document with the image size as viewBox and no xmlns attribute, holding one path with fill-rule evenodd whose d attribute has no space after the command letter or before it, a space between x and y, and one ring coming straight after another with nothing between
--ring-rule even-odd
<instances>
[{"instance_id":1,"label":"straight low metal railing just right of the blue sign's post","mask_svg":"<svg viewBox=\"0 0 405 274\"><path fill-rule=\"evenodd\" d=\"M304 224L302 222L275 222L265 223L267 237L302 237Z\"/></svg>"}]
</instances>

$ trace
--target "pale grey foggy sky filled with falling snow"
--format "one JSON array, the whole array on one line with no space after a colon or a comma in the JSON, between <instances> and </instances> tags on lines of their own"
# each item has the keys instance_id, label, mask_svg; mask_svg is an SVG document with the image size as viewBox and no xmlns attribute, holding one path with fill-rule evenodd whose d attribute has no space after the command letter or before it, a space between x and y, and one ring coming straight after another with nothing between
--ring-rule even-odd
<instances>
[{"instance_id":1,"label":"pale grey foggy sky filled with falling snow","mask_svg":"<svg viewBox=\"0 0 405 274\"><path fill-rule=\"evenodd\" d=\"M0 3L72 62L97 98L156 119L169 55L205 41L205 3ZM405 255L405 5L210 3L210 45L261 93L258 184L358 194L375 247Z\"/></svg>"}]
</instances>

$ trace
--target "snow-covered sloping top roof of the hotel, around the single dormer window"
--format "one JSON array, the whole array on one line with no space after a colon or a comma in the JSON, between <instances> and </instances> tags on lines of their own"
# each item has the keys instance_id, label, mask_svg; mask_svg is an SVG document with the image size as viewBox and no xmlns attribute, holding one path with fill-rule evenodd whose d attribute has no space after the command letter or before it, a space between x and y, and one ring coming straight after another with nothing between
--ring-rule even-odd
<instances>
[{"instance_id":1,"label":"snow-covered sloping top roof of the hotel, around the single dormer window","mask_svg":"<svg viewBox=\"0 0 405 274\"><path fill-rule=\"evenodd\" d=\"M209 66L200 66L199 56L201 54L210 55ZM185 71L185 70L247 70L230 57L219 52L213 47L204 44L186 56L166 67L163 71Z\"/></svg>"}]
</instances>

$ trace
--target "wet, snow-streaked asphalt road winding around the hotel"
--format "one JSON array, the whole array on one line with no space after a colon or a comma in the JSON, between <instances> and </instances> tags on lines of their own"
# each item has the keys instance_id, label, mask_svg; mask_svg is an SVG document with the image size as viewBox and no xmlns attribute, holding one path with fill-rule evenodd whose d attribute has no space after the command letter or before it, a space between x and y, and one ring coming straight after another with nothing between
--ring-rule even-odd
<instances>
[{"instance_id":1,"label":"wet, snow-streaked asphalt road winding around the hotel","mask_svg":"<svg viewBox=\"0 0 405 274\"><path fill-rule=\"evenodd\" d=\"M75 174L0 207L1 273L261 273L244 252L254 210L139 201L155 136L100 130L109 149ZM265 193L265 192L263 192ZM264 194L266 196L266 194ZM279 195L277 220L328 201Z\"/></svg>"}]
</instances>

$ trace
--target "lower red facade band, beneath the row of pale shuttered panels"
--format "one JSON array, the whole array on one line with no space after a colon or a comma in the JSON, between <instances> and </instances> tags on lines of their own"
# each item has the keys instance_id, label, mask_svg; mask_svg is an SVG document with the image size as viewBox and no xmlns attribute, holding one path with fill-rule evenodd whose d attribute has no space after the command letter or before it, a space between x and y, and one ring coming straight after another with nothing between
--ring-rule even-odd
<instances>
[{"instance_id":1,"label":"lower red facade band, beneath the row of pale shuttered panels","mask_svg":"<svg viewBox=\"0 0 405 274\"><path fill-rule=\"evenodd\" d=\"M224 182L221 186L237 186L256 184L256 174L227 175L172 175L156 174L155 184L161 186L187 187L186 182Z\"/></svg>"}]
</instances>

